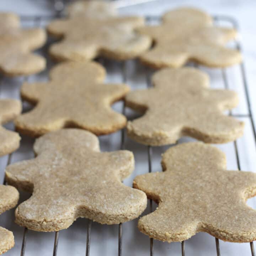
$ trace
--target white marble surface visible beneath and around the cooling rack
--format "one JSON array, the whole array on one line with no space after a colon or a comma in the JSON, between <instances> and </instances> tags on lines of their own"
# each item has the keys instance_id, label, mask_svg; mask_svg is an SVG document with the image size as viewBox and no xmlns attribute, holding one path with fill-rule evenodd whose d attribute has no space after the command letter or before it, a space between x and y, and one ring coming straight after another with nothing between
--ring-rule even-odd
<instances>
[{"instance_id":1,"label":"white marble surface visible beneath and around the cooling rack","mask_svg":"<svg viewBox=\"0 0 256 256\"><path fill-rule=\"evenodd\" d=\"M34 1L34 0L1 0L1 11L15 11L22 15L46 15L50 14L52 5L51 1ZM240 38L243 46L243 55L246 64L247 79L250 90L250 97L252 102L252 109L254 115L256 111L256 28L255 28L255 10L256 3L254 1L154 1L148 4L122 8L120 11L123 14L137 14L137 15L158 15L167 9L177 6L195 6L200 7L210 14L223 14L234 16L240 25ZM114 62L104 63L108 68L107 81L121 82L121 65ZM138 63L129 61L126 63L127 83L132 87L145 88L146 69ZM200 67L202 68L202 67ZM219 69L203 68L211 78L211 86L215 88L223 88L222 73ZM240 105L233 113L247 114L248 109L244 97L244 90L241 83L241 74L239 66L228 68L228 81L230 89L236 90L240 96ZM37 76L31 76L29 81L46 80L47 72L42 72ZM18 89L23 81L23 78L7 79L2 78L0 81L0 97L19 97ZM114 106L117 110L121 109L121 104ZM127 111L130 117L134 117L131 111ZM255 116L254 116L255 117ZM238 139L239 158L241 169L246 171L256 172L256 154L255 154L255 140L252 136L252 129L249 118L242 118L246 122L245 134ZM12 125L8 125L12 127ZM121 133L101 137L102 150L118 150L120 146ZM187 139L182 139L184 142ZM32 153L33 140L30 138L22 138L21 148L18 149L12 157L12 162L33 157ZM228 169L237 169L234 143L219 145L227 156ZM160 171L160 154L168 147L157 147L153 149L153 171ZM126 149L132 150L135 156L135 170L133 174L127 178L124 183L132 185L133 178L138 174L148 172L146 147L126 140ZM6 165L7 156L0 158L0 181L4 177L4 168ZM23 201L27 194L22 194L21 201ZM250 199L248 204L256 208L255 199ZM171 209L170 209L171 210ZM148 213L148 209L143 213ZM134 220L123 225L123 255L149 255L149 238L140 233L136 227L137 220ZM23 228L14 223L14 210L4 213L0 216L0 226L4 226L9 230L14 231L16 245L14 249L7 252L5 255L19 255L21 249ZM86 246L86 228L87 220L77 220L68 230L60 231L58 255L85 255ZM91 255L117 255L118 248L118 226L92 224L91 237ZM38 233L35 231L28 231L27 237L27 256L32 255L52 255L54 243L54 233ZM205 233L199 233L185 242L186 255L216 255L215 239ZM250 245L247 244L233 244L220 241L220 252L222 255L250 255ZM181 244L162 243L154 241L154 255L181 255Z\"/></svg>"}]
</instances>

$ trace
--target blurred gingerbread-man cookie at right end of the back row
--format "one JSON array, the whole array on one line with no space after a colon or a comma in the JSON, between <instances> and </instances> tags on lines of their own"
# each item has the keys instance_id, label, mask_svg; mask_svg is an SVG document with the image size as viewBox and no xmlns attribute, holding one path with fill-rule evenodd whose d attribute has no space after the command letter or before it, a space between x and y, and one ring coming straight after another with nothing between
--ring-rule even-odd
<instances>
[{"instance_id":1,"label":"blurred gingerbread-man cookie at right end of the back row","mask_svg":"<svg viewBox=\"0 0 256 256\"><path fill-rule=\"evenodd\" d=\"M218 68L241 62L239 51L225 47L236 37L236 30L214 26L212 17L197 9L166 12L160 25L138 31L154 40L153 48L141 56L153 68L178 68L189 60Z\"/></svg>"}]
</instances>

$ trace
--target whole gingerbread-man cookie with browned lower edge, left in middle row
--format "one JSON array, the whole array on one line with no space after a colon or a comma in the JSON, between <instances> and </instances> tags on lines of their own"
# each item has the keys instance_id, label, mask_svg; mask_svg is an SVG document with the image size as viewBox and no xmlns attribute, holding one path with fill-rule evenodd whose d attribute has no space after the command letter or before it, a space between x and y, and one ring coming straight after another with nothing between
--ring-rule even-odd
<instances>
[{"instance_id":1,"label":"whole gingerbread-man cookie with browned lower edge, left in middle row","mask_svg":"<svg viewBox=\"0 0 256 256\"><path fill-rule=\"evenodd\" d=\"M126 117L111 108L129 91L124 84L104 84L105 69L93 62L66 62L50 71L47 83L23 84L21 97L36 107L15 120L16 129L37 137L64 127L97 135L126 126Z\"/></svg>"}]
</instances>

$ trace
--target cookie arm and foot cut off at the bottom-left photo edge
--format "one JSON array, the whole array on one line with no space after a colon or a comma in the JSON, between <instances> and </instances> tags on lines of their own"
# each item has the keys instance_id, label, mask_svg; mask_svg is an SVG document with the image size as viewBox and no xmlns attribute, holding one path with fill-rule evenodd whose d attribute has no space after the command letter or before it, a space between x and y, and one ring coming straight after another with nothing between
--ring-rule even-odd
<instances>
[{"instance_id":1,"label":"cookie arm and foot cut off at the bottom-left photo edge","mask_svg":"<svg viewBox=\"0 0 256 256\"><path fill-rule=\"evenodd\" d=\"M16 188L0 185L0 214L14 208L18 203L19 194ZM0 254L14 247L14 235L11 231L0 227Z\"/></svg>"}]
</instances>

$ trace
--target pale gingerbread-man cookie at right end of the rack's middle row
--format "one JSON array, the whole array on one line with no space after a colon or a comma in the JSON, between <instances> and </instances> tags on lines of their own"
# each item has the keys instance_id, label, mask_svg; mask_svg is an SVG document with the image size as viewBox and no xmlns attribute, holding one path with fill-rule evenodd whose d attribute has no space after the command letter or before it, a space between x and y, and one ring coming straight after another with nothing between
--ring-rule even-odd
<instances>
[{"instance_id":1,"label":"pale gingerbread-man cookie at right end of the rack's middle row","mask_svg":"<svg viewBox=\"0 0 256 256\"><path fill-rule=\"evenodd\" d=\"M175 143L190 136L226 143L243 134L244 123L222 112L238 105L234 91L209 88L208 75L194 68L156 72L154 87L126 96L126 106L144 113L127 124L129 137L145 145Z\"/></svg>"}]
</instances>

